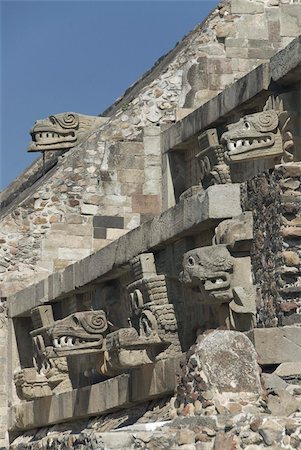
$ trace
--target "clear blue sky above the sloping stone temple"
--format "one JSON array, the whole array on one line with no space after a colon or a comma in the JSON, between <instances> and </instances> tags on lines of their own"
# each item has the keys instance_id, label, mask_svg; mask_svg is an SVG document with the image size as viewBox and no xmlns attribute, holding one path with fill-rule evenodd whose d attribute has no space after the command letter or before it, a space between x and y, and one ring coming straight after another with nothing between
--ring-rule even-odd
<instances>
[{"instance_id":1,"label":"clear blue sky above the sloping stone temple","mask_svg":"<svg viewBox=\"0 0 301 450\"><path fill-rule=\"evenodd\" d=\"M0 0L0 190L38 156L36 119L100 114L217 3Z\"/></svg>"}]
</instances>

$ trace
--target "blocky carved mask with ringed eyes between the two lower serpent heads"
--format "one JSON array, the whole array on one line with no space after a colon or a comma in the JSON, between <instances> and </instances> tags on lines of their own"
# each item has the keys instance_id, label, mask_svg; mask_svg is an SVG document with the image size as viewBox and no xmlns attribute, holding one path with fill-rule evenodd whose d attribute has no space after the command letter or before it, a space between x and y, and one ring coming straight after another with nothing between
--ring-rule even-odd
<instances>
[{"instance_id":1,"label":"blocky carved mask with ringed eyes between the two lower serpent heads","mask_svg":"<svg viewBox=\"0 0 301 450\"><path fill-rule=\"evenodd\" d=\"M165 275L158 275L153 253L131 261L134 281L127 286L129 325L106 337L101 372L114 375L181 353L174 306Z\"/></svg>"}]
</instances>

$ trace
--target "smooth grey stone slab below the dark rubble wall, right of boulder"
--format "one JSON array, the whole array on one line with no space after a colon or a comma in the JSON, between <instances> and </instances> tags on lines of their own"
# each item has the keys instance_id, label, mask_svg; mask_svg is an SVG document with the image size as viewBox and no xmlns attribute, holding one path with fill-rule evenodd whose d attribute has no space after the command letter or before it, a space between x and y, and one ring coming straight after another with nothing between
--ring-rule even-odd
<instances>
[{"instance_id":1,"label":"smooth grey stone slab below the dark rubble wall, right of boulder","mask_svg":"<svg viewBox=\"0 0 301 450\"><path fill-rule=\"evenodd\" d=\"M301 328L294 326L255 328L246 333L261 365L301 361Z\"/></svg>"}]
</instances>

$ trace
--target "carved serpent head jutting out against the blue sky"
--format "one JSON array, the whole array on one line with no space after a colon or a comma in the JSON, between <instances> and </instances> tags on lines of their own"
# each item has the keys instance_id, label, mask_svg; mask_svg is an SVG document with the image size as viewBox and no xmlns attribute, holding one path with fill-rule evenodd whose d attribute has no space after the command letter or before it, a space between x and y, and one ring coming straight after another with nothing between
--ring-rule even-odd
<instances>
[{"instance_id":1,"label":"carved serpent head jutting out against the blue sky","mask_svg":"<svg viewBox=\"0 0 301 450\"><path fill-rule=\"evenodd\" d=\"M103 117L76 113L54 114L37 120L30 131L29 152L70 149L80 144L85 136L101 126Z\"/></svg>"}]
</instances>

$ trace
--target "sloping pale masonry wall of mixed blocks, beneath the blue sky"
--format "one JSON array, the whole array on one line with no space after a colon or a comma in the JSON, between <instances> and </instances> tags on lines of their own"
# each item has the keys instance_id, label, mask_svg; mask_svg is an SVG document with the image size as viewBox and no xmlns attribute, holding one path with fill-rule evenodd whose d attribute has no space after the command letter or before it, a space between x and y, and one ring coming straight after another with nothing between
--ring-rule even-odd
<instances>
[{"instance_id":1,"label":"sloping pale masonry wall of mixed blocks, beneath the blue sky","mask_svg":"<svg viewBox=\"0 0 301 450\"><path fill-rule=\"evenodd\" d=\"M299 17L301 5L293 1L232 0L216 7L113 105L107 123L61 155L27 198L14 200L1 221L1 296L158 214L160 128L268 60L299 34Z\"/></svg>"}]
</instances>

